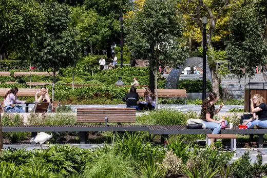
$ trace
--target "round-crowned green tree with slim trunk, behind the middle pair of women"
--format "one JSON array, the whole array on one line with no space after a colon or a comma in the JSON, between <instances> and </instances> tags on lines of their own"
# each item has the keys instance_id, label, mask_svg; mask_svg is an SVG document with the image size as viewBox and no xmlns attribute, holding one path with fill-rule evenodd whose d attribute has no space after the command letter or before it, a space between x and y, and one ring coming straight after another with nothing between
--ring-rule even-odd
<instances>
[{"instance_id":1,"label":"round-crowned green tree with slim trunk, behind the middle pair of women","mask_svg":"<svg viewBox=\"0 0 267 178\"><path fill-rule=\"evenodd\" d=\"M126 21L125 41L136 56L149 60L155 75L157 102L157 69L159 64L178 66L188 57L182 32L183 17L175 0L147 0Z\"/></svg>"}]
</instances>

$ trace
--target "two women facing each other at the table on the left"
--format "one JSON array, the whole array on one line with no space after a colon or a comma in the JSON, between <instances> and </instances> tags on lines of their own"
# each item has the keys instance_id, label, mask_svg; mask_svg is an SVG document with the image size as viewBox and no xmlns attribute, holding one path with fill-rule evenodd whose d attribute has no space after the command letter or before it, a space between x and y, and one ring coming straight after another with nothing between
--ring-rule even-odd
<instances>
[{"instance_id":1,"label":"two women facing each other at the table on the left","mask_svg":"<svg viewBox=\"0 0 267 178\"><path fill-rule=\"evenodd\" d=\"M23 107L17 104L25 104L26 101L20 101L17 99L17 93L18 88L12 87L4 97L4 112L8 113L15 113L15 112L25 112ZM41 94L41 96L38 98L37 95ZM41 87L41 91L37 91L35 93L35 102L44 102L44 103L50 103L51 106L53 105L53 101L51 100L51 97L49 96L48 92L46 91L46 87Z\"/></svg>"}]
</instances>

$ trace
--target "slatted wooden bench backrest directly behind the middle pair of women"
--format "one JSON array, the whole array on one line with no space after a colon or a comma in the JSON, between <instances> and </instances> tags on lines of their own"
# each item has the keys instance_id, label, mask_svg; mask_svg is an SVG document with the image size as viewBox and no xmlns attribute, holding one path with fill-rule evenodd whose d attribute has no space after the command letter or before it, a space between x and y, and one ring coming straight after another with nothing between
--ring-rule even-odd
<instances>
[{"instance_id":1,"label":"slatted wooden bench backrest directly behind the middle pair of women","mask_svg":"<svg viewBox=\"0 0 267 178\"><path fill-rule=\"evenodd\" d=\"M137 89L136 92L140 97L144 97L143 89ZM186 97L184 89L158 89L159 97Z\"/></svg>"}]
</instances>

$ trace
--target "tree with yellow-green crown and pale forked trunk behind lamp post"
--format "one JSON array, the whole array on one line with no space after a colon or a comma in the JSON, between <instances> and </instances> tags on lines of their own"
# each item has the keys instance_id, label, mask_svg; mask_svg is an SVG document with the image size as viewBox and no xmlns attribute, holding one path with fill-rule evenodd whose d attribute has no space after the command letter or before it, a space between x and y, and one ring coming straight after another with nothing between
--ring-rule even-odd
<instances>
[{"instance_id":1,"label":"tree with yellow-green crown and pale forked trunk behind lamp post","mask_svg":"<svg viewBox=\"0 0 267 178\"><path fill-rule=\"evenodd\" d=\"M179 0L178 2L180 11L189 16L194 24L200 29L201 37L203 36L203 24L201 18L202 16L207 15L209 22L207 24L208 32L205 40L207 41L208 47L213 48L213 36L221 16L227 12L226 10L229 10L230 8L234 9L240 6L242 0ZM215 61L212 64L214 63ZM212 74L213 91L219 95L220 81L216 73L216 65L210 65L209 69L211 70Z\"/></svg>"}]
</instances>

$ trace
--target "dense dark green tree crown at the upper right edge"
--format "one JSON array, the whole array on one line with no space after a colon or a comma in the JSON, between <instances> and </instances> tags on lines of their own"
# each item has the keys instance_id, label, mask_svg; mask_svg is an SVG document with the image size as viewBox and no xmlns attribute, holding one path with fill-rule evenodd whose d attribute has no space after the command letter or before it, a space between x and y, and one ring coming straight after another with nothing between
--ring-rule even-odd
<instances>
[{"instance_id":1,"label":"dense dark green tree crown at the upper right edge","mask_svg":"<svg viewBox=\"0 0 267 178\"><path fill-rule=\"evenodd\" d=\"M230 23L230 40L226 42L226 53L233 72L238 77L253 76L254 68L267 64L267 43L264 41L262 16L254 3L246 4L233 13ZM245 69L245 73L241 71Z\"/></svg>"}]
</instances>

